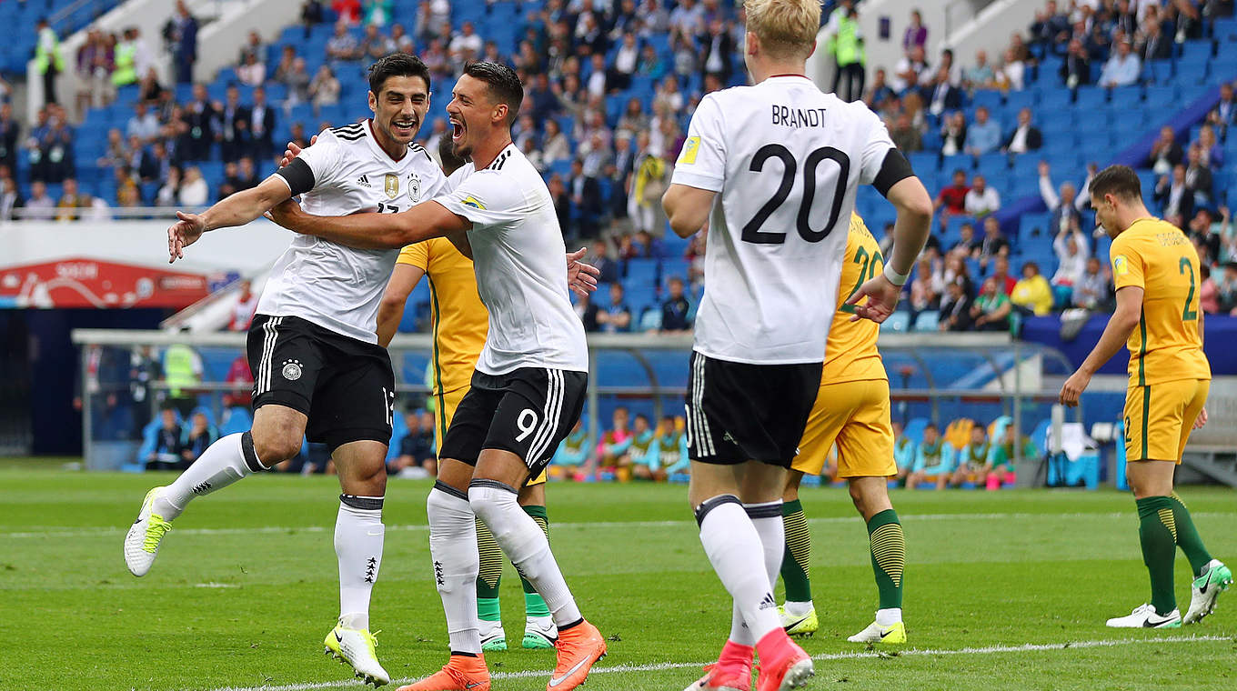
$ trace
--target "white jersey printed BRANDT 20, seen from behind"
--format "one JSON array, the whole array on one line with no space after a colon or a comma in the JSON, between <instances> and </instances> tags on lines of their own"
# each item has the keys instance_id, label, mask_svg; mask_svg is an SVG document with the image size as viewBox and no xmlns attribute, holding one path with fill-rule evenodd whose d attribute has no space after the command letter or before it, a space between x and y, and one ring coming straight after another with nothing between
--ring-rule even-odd
<instances>
[{"instance_id":1,"label":"white jersey printed BRANDT 20, seen from behind","mask_svg":"<svg viewBox=\"0 0 1237 691\"><path fill-rule=\"evenodd\" d=\"M862 103L804 77L708 94L672 182L717 192L698 352L756 365L821 362L855 192L894 148Z\"/></svg>"}]
</instances>

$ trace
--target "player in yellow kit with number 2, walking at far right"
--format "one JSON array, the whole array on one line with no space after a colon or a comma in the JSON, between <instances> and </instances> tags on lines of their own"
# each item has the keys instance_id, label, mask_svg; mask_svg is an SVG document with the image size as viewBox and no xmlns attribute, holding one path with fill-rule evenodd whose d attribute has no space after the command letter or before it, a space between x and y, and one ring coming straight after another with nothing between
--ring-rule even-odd
<instances>
[{"instance_id":1,"label":"player in yellow kit with number 2, walking at far right","mask_svg":"<svg viewBox=\"0 0 1237 691\"><path fill-rule=\"evenodd\" d=\"M1207 553L1190 512L1173 492L1190 430L1207 422L1211 367L1202 354L1199 253L1180 229L1147 211L1132 169L1105 168L1091 179L1090 192L1096 220L1112 237L1108 256L1117 309L1100 342L1065 381L1060 401L1077 405L1091 376L1126 344L1126 476L1138 504L1152 598L1128 616L1108 619L1108 625L1178 628L1183 621L1191 624L1210 614L1233 580L1228 567ZM1178 546L1195 576L1184 619L1173 592Z\"/></svg>"}]
</instances>

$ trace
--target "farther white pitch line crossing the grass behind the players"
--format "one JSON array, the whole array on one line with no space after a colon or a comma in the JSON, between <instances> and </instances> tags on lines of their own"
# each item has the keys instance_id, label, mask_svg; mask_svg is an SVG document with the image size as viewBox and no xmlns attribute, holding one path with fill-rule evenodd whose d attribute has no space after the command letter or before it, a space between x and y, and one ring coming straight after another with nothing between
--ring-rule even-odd
<instances>
[{"instance_id":1,"label":"farther white pitch line crossing the grass behind the players","mask_svg":"<svg viewBox=\"0 0 1237 691\"><path fill-rule=\"evenodd\" d=\"M899 518L903 523L923 523L929 520L1030 520L1037 518L1129 518L1133 512L1110 512L1110 513L903 513ZM1190 512L1194 517L1228 517L1233 515L1233 512L1223 511L1196 511ZM808 523L813 525L824 525L831 523L856 523L861 519L858 515L834 515L828 518L809 518ZM695 525L695 520L571 520L564 523L555 523L554 530L596 530L596 529L620 529L627 530L632 528L674 528L678 525ZM387 530L408 530L408 532L427 532L429 527L423 523L413 523L407 525L387 525ZM0 540L4 539L25 539L25 538L98 538L106 535L122 535L129 530L129 527L124 528L74 528L71 530L51 528L48 530L24 530L14 533L0 533ZM328 530L334 532L335 528L330 525L261 525L256 528L184 528L177 530L177 535L254 535L254 534L278 534L278 533L325 533Z\"/></svg>"}]
</instances>

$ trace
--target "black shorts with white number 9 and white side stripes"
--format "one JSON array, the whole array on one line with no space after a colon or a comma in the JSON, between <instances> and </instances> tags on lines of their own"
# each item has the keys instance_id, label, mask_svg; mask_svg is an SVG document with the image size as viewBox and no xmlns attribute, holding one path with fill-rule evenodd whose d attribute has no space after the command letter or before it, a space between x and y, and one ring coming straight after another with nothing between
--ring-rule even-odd
<instances>
[{"instance_id":1,"label":"black shorts with white number 9 and white side stripes","mask_svg":"<svg viewBox=\"0 0 1237 691\"><path fill-rule=\"evenodd\" d=\"M588 372L543 367L521 367L506 375L475 371L438 457L475 466L482 449L501 449L523 459L528 477L537 477L580 419L588 387Z\"/></svg>"}]
</instances>

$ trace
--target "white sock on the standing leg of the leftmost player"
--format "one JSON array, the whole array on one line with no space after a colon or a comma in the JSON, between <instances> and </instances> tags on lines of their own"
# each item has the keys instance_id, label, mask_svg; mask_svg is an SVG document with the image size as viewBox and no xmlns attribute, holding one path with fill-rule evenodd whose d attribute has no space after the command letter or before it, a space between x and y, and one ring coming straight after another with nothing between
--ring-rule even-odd
<instances>
[{"instance_id":1,"label":"white sock on the standing leg of the leftmost player","mask_svg":"<svg viewBox=\"0 0 1237 691\"><path fill-rule=\"evenodd\" d=\"M339 496L335 556L339 559L339 619L351 629L370 628L370 593L382 566L382 497Z\"/></svg>"}]
</instances>

